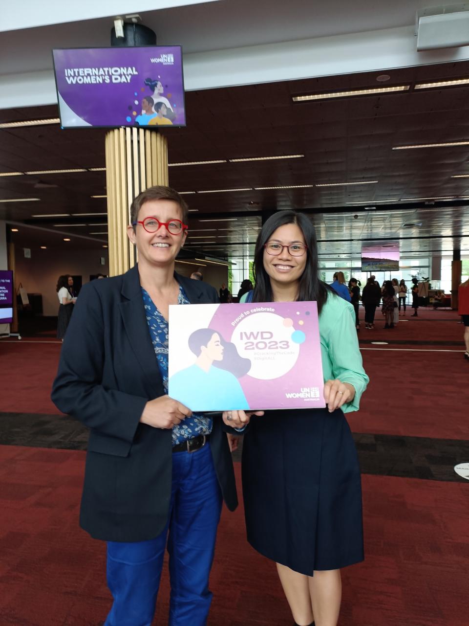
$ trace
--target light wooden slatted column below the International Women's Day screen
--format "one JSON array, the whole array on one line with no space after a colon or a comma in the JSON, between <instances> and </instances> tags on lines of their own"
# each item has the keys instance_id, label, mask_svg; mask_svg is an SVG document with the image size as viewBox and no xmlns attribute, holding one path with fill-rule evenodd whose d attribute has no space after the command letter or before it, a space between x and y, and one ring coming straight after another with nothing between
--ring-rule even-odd
<instances>
[{"instance_id":1,"label":"light wooden slatted column below the International Women's Day screen","mask_svg":"<svg viewBox=\"0 0 469 626\"><path fill-rule=\"evenodd\" d=\"M136 264L136 250L126 230L130 205L154 185L168 185L168 143L158 131L115 128L106 133L109 275L124 274Z\"/></svg>"}]
</instances>

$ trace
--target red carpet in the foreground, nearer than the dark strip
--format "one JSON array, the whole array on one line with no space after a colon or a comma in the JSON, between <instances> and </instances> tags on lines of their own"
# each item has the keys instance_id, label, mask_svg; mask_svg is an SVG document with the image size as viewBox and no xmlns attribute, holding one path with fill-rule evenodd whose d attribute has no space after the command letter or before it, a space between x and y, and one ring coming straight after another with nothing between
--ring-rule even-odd
<instances>
[{"instance_id":1,"label":"red carpet in the foreground, nearer than the dark strip","mask_svg":"<svg viewBox=\"0 0 469 626\"><path fill-rule=\"evenodd\" d=\"M90 626L106 617L104 545L79 530L84 453L0 446L2 626ZM240 466L236 464L238 483ZM340 626L466 626L467 486L364 476L366 561L344 570ZM268 528L266 529L268 532ZM290 626L271 562L223 511L209 626ZM166 623L165 575L155 624Z\"/></svg>"}]
</instances>

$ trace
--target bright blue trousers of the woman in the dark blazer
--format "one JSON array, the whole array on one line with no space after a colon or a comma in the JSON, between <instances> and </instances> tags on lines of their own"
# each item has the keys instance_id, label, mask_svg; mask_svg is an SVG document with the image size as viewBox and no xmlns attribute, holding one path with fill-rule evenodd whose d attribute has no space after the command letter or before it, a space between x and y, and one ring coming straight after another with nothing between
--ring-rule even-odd
<instances>
[{"instance_id":1,"label":"bright blue trousers of the woman in the dark blazer","mask_svg":"<svg viewBox=\"0 0 469 626\"><path fill-rule=\"evenodd\" d=\"M108 541L108 586L114 603L104 626L151 626L165 547L171 582L169 626L205 626L220 513L221 491L209 444L193 453L173 453L164 531L148 541Z\"/></svg>"}]
</instances>

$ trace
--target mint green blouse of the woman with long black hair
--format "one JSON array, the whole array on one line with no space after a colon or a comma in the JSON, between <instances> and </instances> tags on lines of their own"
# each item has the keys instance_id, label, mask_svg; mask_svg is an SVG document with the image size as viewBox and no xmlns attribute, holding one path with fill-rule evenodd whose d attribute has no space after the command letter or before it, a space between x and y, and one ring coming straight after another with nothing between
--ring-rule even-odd
<instances>
[{"instance_id":1,"label":"mint green blouse of the woman with long black hair","mask_svg":"<svg viewBox=\"0 0 469 626\"><path fill-rule=\"evenodd\" d=\"M248 294L241 297L241 302L245 302L246 297ZM353 305L338 295L328 293L319 316L319 334L324 381L338 378L353 385L353 401L343 404L341 408L344 413L358 411L361 394L370 379L363 369Z\"/></svg>"}]
</instances>

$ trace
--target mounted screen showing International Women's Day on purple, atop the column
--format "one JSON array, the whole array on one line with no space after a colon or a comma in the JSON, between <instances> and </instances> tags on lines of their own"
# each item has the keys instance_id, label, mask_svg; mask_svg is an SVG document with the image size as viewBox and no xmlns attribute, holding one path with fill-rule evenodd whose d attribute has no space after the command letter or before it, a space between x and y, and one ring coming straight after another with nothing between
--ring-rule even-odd
<instances>
[{"instance_id":1,"label":"mounted screen showing International Women's Day on purple, atop the column","mask_svg":"<svg viewBox=\"0 0 469 626\"><path fill-rule=\"evenodd\" d=\"M185 126L180 46L53 50L61 125Z\"/></svg>"}]
</instances>

